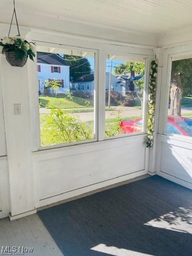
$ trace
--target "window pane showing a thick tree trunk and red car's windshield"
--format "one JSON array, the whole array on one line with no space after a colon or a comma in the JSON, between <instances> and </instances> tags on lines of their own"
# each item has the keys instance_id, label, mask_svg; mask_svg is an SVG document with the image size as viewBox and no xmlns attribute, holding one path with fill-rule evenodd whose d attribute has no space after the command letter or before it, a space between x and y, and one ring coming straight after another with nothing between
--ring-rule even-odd
<instances>
[{"instance_id":1,"label":"window pane showing a thick tree trunk and red car's windshield","mask_svg":"<svg viewBox=\"0 0 192 256\"><path fill-rule=\"evenodd\" d=\"M166 132L192 136L192 58L172 59Z\"/></svg>"}]
</instances>

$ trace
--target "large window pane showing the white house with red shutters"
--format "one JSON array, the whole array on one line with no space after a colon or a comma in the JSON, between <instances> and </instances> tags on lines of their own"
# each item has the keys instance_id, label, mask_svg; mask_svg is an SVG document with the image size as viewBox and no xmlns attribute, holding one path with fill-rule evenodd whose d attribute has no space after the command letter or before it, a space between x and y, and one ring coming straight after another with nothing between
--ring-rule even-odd
<instances>
[{"instance_id":1,"label":"large window pane showing the white house with red shutters","mask_svg":"<svg viewBox=\"0 0 192 256\"><path fill-rule=\"evenodd\" d=\"M94 53L38 50L41 146L94 139Z\"/></svg>"}]
</instances>

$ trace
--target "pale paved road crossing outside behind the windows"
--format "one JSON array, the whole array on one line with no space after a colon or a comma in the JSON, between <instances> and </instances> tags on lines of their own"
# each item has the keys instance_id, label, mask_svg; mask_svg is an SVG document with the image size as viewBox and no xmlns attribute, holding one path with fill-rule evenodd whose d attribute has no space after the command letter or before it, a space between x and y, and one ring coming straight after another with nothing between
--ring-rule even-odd
<instances>
[{"instance_id":1,"label":"pale paved road crossing outside behind the windows","mask_svg":"<svg viewBox=\"0 0 192 256\"><path fill-rule=\"evenodd\" d=\"M40 114L50 114L50 109L48 108L40 108ZM120 117L139 117L142 116L142 110L134 108L134 107L116 107L116 110L106 111L105 117L106 118L116 118L118 116L118 111L120 111ZM192 110L190 108L182 108L181 113L191 113ZM93 112L81 112L81 113L74 113L75 116L79 116L81 122L88 122L94 120L94 113Z\"/></svg>"}]
</instances>

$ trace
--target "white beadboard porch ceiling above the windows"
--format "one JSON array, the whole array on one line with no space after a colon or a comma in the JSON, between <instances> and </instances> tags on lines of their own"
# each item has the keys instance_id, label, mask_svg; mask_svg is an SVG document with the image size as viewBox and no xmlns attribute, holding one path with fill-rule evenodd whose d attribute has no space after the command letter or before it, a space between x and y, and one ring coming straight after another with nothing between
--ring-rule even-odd
<instances>
[{"instance_id":1,"label":"white beadboard porch ceiling above the windows","mask_svg":"<svg viewBox=\"0 0 192 256\"><path fill-rule=\"evenodd\" d=\"M15 0L20 25L65 32L65 20L156 35L192 25L192 0ZM0 1L9 23L12 0Z\"/></svg>"}]
</instances>

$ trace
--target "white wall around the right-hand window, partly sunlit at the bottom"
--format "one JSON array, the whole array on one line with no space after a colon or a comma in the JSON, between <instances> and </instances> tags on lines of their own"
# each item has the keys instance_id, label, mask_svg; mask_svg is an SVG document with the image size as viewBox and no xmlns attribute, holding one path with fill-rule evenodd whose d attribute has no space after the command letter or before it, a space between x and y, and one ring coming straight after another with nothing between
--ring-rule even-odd
<instances>
[{"instance_id":1,"label":"white wall around the right-hand window, partly sunlit at the bottom","mask_svg":"<svg viewBox=\"0 0 192 256\"><path fill-rule=\"evenodd\" d=\"M192 44L165 49L163 54L158 135L156 145L157 174L192 189L192 138L166 134L166 118L169 100L170 68L172 56L192 54Z\"/></svg>"}]
</instances>

